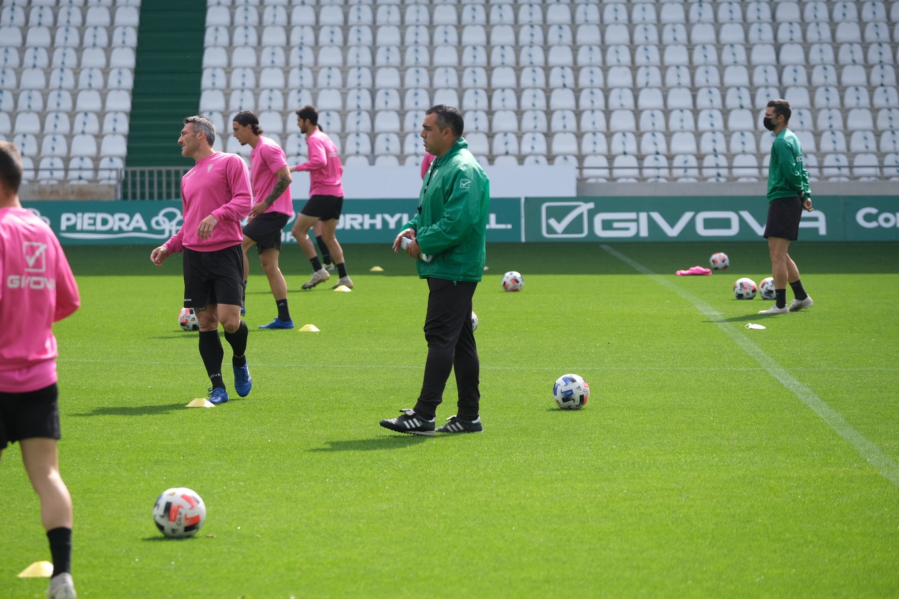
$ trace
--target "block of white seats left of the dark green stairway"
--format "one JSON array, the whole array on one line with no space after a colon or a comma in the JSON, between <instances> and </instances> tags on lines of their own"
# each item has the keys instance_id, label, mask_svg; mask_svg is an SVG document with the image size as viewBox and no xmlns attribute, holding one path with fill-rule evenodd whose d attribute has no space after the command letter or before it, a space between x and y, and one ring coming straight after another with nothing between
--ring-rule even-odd
<instances>
[{"instance_id":1,"label":"block of white seats left of the dark green stairway","mask_svg":"<svg viewBox=\"0 0 899 599\"><path fill-rule=\"evenodd\" d=\"M26 182L118 177L110 165L126 156L139 7L139 0L3 3L0 138L22 152Z\"/></svg>"}]
</instances>

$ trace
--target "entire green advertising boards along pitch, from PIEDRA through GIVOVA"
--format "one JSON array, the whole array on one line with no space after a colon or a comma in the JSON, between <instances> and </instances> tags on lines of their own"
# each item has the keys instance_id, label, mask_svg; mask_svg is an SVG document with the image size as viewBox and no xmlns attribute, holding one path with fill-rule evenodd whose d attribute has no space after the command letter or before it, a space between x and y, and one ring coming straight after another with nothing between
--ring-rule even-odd
<instances>
[{"instance_id":1,"label":"entire green advertising boards along pitch, from PIEDRA through GIVOVA","mask_svg":"<svg viewBox=\"0 0 899 599\"><path fill-rule=\"evenodd\" d=\"M305 202L294 201L299 211ZM181 228L179 201L31 201L63 244L160 244ZM415 214L415 199L348 199L341 243L393 242ZM488 242L752 241L765 230L758 196L492 198ZM283 242L296 242L285 227ZM815 196L799 225L803 241L899 241L899 198Z\"/></svg>"}]
</instances>

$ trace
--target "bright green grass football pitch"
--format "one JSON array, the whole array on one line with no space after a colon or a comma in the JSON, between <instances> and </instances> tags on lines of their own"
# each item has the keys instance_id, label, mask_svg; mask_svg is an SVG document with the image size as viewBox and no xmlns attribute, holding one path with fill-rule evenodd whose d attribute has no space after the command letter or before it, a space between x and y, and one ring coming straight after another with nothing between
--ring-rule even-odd
<instances>
[{"instance_id":1,"label":"bright green grass football pitch","mask_svg":"<svg viewBox=\"0 0 899 599\"><path fill-rule=\"evenodd\" d=\"M384 246L346 246L356 289L302 292L297 326L251 256L254 389L213 410L197 334L179 329L181 260L69 247L82 308L57 325L60 467L79 597L896 597L899 244L802 243L814 307L760 317L763 242L497 244L475 295L483 435L378 426L420 389L427 287ZM730 269L675 277L726 251ZM383 273L369 273L372 266ZM506 270L524 290L503 293ZM792 297L788 291L788 297ZM720 315L701 313L690 298ZM745 330L761 322L766 330ZM886 459L878 468L751 357L748 339ZM233 389L227 368L225 378ZM552 384L581 374L584 410ZM455 414L450 377L438 420ZM232 397L236 397L232 393ZM889 474L889 472L886 472ZM156 531L156 496L205 500L197 538ZM0 465L0 597L49 559L18 445Z\"/></svg>"}]
</instances>

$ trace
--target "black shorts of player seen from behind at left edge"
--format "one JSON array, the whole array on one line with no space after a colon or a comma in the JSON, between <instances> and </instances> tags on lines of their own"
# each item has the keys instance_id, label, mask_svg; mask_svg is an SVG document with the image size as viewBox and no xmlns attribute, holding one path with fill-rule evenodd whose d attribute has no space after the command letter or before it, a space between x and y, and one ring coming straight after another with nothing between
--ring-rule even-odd
<instances>
[{"instance_id":1,"label":"black shorts of player seen from behind at left edge","mask_svg":"<svg viewBox=\"0 0 899 599\"><path fill-rule=\"evenodd\" d=\"M37 391L0 392L0 450L32 437L61 438L58 397L57 383Z\"/></svg>"}]
</instances>

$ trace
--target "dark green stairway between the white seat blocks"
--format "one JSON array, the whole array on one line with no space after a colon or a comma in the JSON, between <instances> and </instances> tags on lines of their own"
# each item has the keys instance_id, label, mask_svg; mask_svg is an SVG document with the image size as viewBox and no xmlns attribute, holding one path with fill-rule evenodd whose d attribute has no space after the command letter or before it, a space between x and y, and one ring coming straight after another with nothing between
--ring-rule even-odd
<instances>
[{"instance_id":1,"label":"dark green stairway between the white seat blocks","mask_svg":"<svg viewBox=\"0 0 899 599\"><path fill-rule=\"evenodd\" d=\"M200 110L205 0L140 6L126 166L189 166L177 141L182 119Z\"/></svg>"}]
</instances>

